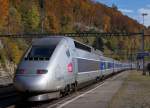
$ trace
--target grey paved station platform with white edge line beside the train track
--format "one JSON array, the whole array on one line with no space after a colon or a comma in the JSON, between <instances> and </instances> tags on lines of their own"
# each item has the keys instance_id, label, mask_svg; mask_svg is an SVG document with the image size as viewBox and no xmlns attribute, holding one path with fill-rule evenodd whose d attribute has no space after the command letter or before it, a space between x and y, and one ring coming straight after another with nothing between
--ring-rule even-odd
<instances>
[{"instance_id":1,"label":"grey paved station platform with white edge line beside the train track","mask_svg":"<svg viewBox=\"0 0 150 108\"><path fill-rule=\"evenodd\" d=\"M109 108L111 99L131 72L119 73L92 90L60 104L57 108Z\"/></svg>"}]
</instances>

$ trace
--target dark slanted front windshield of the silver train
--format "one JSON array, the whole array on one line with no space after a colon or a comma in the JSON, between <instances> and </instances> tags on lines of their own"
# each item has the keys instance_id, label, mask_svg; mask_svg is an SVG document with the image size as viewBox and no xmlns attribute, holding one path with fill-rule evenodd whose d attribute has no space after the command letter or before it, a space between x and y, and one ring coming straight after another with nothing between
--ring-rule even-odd
<instances>
[{"instance_id":1,"label":"dark slanted front windshield of the silver train","mask_svg":"<svg viewBox=\"0 0 150 108\"><path fill-rule=\"evenodd\" d=\"M49 60L56 46L32 46L26 59Z\"/></svg>"}]
</instances>

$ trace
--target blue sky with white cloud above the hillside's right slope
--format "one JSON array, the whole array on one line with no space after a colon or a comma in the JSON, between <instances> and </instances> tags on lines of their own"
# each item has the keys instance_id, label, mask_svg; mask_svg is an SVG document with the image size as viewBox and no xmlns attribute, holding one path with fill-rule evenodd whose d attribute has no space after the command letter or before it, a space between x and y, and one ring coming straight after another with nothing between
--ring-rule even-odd
<instances>
[{"instance_id":1,"label":"blue sky with white cloud above the hillside's right slope","mask_svg":"<svg viewBox=\"0 0 150 108\"><path fill-rule=\"evenodd\" d=\"M124 15L127 15L139 23L143 24L142 13L147 13L144 17L144 25L150 26L150 0L96 0L108 6L115 4Z\"/></svg>"}]
</instances>

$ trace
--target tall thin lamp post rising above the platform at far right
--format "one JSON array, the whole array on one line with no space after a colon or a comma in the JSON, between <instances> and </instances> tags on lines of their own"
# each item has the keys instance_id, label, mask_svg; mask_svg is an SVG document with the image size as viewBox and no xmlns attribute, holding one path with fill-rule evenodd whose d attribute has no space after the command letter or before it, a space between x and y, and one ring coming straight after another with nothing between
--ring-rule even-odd
<instances>
[{"instance_id":1,"label":"tall thin lamp post rising above the platform at far right","mask_svg":"<svg viewBox=\"0 0 150 108\"><path fill-rule=\"evenodd\" d=\"M142 16L143 16L143 25L144 25L144 17L145 16L147 16L148 14L147 13L142 13ZM142 30L142 43L141 43L141 52L143 52L144 53L144 28L143 28L143 30ZM145 69L144 69L144 62L145 62L145 60L144 60L144 56L143 56L143 75L146 75L146 73L145 73Z\"/></svg>"}]
</instances>

